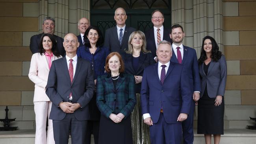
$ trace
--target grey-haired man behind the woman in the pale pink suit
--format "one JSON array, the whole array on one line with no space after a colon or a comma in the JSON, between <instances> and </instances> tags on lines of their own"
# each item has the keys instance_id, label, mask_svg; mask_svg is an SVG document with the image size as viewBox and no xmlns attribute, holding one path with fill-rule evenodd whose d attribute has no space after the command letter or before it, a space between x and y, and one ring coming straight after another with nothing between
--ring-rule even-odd
<instances>
[{"instance_id":1,"label":"grey-haired man behind the woman in the pale pink suit","mask_svg":"<svg viewBox=\"0 0 256 144\"><path fill-rule=\"evenodd\" d=\"M65 50L63 48L63 39L61 37L58 37L57 35L54 35L55 32L55 20L52 17L46 17L43 20L43 33L40 33L38 35L33 35L30 38L30 51L32 54L35 54L39 52L39 43L41 41L41 37L44 33L50 33L54 36L55 40L57 41L57 48L60 55L65 55Z\"/></svg>"}]
</instances>

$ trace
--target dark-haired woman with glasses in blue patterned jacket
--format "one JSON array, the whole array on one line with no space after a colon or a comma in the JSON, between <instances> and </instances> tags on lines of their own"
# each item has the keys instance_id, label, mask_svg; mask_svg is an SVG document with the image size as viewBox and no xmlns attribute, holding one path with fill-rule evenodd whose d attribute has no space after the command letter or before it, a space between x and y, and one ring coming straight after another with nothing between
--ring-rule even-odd
<instances>
[{"instance_id":1,"label":"dark-haired woman with glasses in blue patterned jacket","mask_svg":"<svg viewBox=\"0 0 256 144\"><path fill-rule=\"evenodd\" d=\"M109 49L103 46L104 38L101 31L95 26L89 26L85 31L83 40L84 46L81 46L77 50L77 56L91 62L94 72L94 82L96 85L96 79L98 76L104 74L104 66L106 57L109 54ZM96 106L96 93L89 102L90 120L88 120L86 131L86 144L91 143L91 134L94 136L95 144L98 144L98 131L100 111Z\"/></svg>"}]
</instances>

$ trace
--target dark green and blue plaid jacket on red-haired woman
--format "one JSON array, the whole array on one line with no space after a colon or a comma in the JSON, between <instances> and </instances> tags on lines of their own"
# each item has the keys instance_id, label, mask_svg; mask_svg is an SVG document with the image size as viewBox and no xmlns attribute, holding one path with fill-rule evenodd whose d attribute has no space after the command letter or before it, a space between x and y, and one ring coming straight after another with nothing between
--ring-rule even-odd
<instances>
[{"instance_id":1,"label":"dark green and blue plaid jacket on red-haired woman","mask_svg":"<svg viewBox=\"0 0 256 144\"><path fill-rule=\"evenodd\" d=\"M101 114L109 118L111 113L129 116L136 104L135 79L130 74L121 73L114 87L111 74L97 79L96 104Z\"/></svg>"}]
</instances>

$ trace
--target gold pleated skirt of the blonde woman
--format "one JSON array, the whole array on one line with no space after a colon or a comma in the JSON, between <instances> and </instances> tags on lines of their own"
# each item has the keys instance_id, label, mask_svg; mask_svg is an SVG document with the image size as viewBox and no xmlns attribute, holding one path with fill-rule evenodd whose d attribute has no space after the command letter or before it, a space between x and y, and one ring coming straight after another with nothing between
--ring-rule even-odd
<instances>
[{"instance_id":1,"label":"gold pleated skirt of the blonde woman","mask_svg":"<svg viewBox=\"0 0 256 144\"><path fill-rule=\"evenodd\" d=\"M131 114L133 144L150 144L149 126L141 114L141 94L136 94L137 103Z\"/></svg>"}]
</instances>

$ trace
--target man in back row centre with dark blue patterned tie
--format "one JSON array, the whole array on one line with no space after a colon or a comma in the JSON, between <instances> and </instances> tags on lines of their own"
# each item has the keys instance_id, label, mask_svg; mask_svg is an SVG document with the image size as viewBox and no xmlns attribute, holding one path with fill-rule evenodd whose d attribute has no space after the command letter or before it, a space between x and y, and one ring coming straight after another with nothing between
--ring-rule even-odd
<instances>
[{"instance_id":1,"label":"man in back row centre with dark blue patterned tie","mask_svg":"<svg viewBox=\"0 0 256 144\"><path fill-rule=\"evenodd\" d=\"M127 15L122 7L115 10L115 21L117 26L109 28L105 33L104 46L108 47L111 52L124 52L128 48L129 36L135 31L135 28L125 25Z\"/></svg>"}]
</instances>

